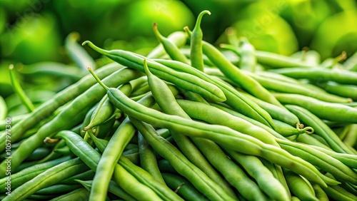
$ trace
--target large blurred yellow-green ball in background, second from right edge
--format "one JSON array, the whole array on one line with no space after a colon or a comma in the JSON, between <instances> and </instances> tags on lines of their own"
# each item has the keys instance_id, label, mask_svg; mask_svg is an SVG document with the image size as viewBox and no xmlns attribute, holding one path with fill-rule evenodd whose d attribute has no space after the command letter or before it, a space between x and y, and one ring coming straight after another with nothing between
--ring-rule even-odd
<instances>
[{"instance_id":1,"label":"large blurred yellow-green ball in background, second from right edge","mask_svg":"<svg viewBox=\"0 0 357 201\"><path fill-rule=\"evenodd\" d=\"M278 16L286 3L259 1L240 11L232 26L238 37L246 37L257 50L291 55L298 51L298 41L291 26Z\"/></svg>"}]
</instances>

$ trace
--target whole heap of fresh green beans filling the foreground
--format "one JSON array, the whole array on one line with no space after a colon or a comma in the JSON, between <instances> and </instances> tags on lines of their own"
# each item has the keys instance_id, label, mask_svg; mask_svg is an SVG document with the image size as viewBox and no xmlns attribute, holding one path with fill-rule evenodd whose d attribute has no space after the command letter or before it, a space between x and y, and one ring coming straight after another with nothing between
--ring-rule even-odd
<instances>
[{"instance_id":1,"label":"whole heap of fresh green beans filling the foreground","mask_svg":"<svg viewBox=\"0 0 357 201\"><path fill-rule=\"evenodd\" d=\"M217 48L205 14L167 37L154 24L146 56L85 41L106 66L71 33L74 65L55 70L76 83L41 105L11 67L28 111L8 116L0 97L0 199L357 200L357 74L341 67L356 59L326 67L246 38ZM23 71L39 72L53 74Z\"/></svg>"}]
</instances>

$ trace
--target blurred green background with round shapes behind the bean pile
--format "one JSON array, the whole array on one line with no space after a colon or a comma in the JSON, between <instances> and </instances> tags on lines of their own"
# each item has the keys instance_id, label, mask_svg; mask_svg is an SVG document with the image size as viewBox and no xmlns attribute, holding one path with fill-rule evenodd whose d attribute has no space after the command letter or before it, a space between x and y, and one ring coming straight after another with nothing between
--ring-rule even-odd
<instances>
[{"instance_id":1,"label":"blurred green background with round shapes behind the bean pile","mask_svg":"<svg viewBox=\"0 0 357 201\"><path fill-rule=\"evenodd\" d=\"M237 37L262 51L291 55L308 47L321 60L357 51L356 0L0 0L0 95L13 93L10 63L16 68L49 61L73 65L64 47L69 33L79 33L79 43L146 54L159 43L154 22L168 36L184 26L193 29L205 9L211 15L203 17L203 39L215 45L227 43L225 31L233 27ZM54 92L74 81L19 78L25 90L41 86Z\"/></svg>"}]
</instances>

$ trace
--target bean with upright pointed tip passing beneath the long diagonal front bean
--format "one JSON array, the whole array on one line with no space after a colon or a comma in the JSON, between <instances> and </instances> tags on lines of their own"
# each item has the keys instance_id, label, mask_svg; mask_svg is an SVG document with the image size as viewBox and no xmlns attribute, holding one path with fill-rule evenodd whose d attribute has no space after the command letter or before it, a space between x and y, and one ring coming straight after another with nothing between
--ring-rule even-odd
<instances>
[{"instance_id":1,"label":"bean with upright pointed tip passing beneath the long diagonal front bean","mask_svg":"<svg viewBox=\"0 0 357 201\"><path fill-rule=\"evenodd\" d=\"M146 75L148 77L151 93L153 94L160 108L164 110L165 113L171 115L180 115L183 118L189 118L188 115L184 113L184 111L176 103L175 97L171 93L166 83L164 83L164 81L161 81L149 71L149 68L146 65L146 61L144 61L144 71L146 72ZM177 133L175 130L170 130L170 132L171 136L174 138L176 144L178 145L178 148L180 148L183 155L185 155L188 160L193 163L193 165L196 165L196 167L200 168L204 173L206 173L206 175L209 175L208 177L210 177L214 182L223 187L226 192L230 192L229 194L231 196L234 195L228 185L226 185L226 182L221 179L221 176L218 174L218 172L214 170L210 163L208 163L208 160L209 158L212 158L213 153L220 153L221 149L218 148L217 145L214 145L211 141L198 138L191 138L191 141L190 138L185 135L181 135L181 133ZM198 148L196 148L195 144L196 146L198 146ZM202 150L202 148L204 149L207 147L209 147L208 151L209 149L213 149L216 151L209 151L209 153L207 153L206 151ZM200 152L200 150L202 153ZM223 152L221 151L221 153ZM205 157L208 158L208 160L206 160Z\"/></svg>"}]
</instances>

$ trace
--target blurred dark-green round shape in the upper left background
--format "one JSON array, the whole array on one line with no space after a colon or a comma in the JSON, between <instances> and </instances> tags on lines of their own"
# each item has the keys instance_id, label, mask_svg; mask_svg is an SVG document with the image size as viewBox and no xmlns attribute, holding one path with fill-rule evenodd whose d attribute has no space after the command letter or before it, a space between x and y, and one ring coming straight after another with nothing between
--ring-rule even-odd
<instances>
[{"instance_id":1,"label":"blurred dark-green round shape in the upper left background","mask_svg":"<svg viewBox=\"0 0 357 201\"><path fill-rule=\"evenodd\" d=\"M21 63L59 61L61 36L52 14L22 16L2 34L1 56Z\"/></svg>"}]
</instances>

